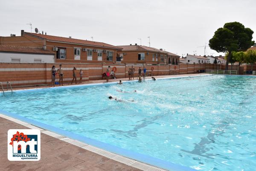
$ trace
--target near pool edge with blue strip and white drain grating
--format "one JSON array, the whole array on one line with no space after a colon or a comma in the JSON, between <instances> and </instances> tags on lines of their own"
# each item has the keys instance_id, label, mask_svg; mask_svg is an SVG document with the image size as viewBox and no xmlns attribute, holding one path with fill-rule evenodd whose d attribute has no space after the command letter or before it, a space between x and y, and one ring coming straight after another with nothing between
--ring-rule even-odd
<instances>
[{"instance_id":1,"label":"near pool edge with blue strip and white drain grating","mask_svg":"<svg viewBox=\"0 0 256 171\"><path fill-rule=\"evenodd\" d=\"M60 139L62 141L68 142L70 144L76 145L80 148L84 148L93 153L99 154L101 156L113 159L117 162L121 162L125 165L129 165L134 168L138 168L143 171L195 171L192 168L188 168L182 165L177 165L171 162L166 162L161 159L154 157L148 157L144 154L135 153L123 148L119 148L113 145L108 145L104 142L99 142L94 139L90 139L84 136L79 136L75 133L70 133L59 128L52 127L51 125L46 125L41 122L34 121L32 119L27 119L23 116L19 116L13 113L9 113L0 110L0 117L8 119L12 122L16 122L20 125L26 126L31 129L39 129L41 133L45 133L54 138ZM35 126L37 125L37 126ZM50 128L50 129L48 129ZM52 130L52 131L49 131ZM56 132L56 133L55 133ZM57 134L58 133L58 134ZM69 138L70 137L70 138ZM85 143L84 142L88 142ZM89 145L91 144L91 145ZM92 145L93 144L93 145ZM97 147L96 147L97 146ZM103 147L103 148L102 148ZM107 148L107 150L104 150ZM112 152L111 152L112 151ZM120 154L123 154L120 155ZM148 164L150 163L150 164Z\"/></svg>"}]
</instances>

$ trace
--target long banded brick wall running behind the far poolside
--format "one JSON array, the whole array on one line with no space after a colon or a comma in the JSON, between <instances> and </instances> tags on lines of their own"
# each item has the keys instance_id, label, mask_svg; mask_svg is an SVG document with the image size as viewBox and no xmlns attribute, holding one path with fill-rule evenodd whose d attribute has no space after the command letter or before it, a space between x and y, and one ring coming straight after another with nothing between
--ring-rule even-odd
<instances>
[{"instance_id":1,"label":"long banded brick wall running behind the far poolside","mask_svg":"<svg viewBox=\"0 0 256 171\"><path fill-rule=\"evenodd\" d=\"M0 82L6 87L6 82L10 81L12 86L41 85L51 83L51 68L55 65L58 69L60 63L55 64L36 64L36 63L0 63ZM84 72L83 81L100 80L102 73L106 72L108 66L116 67L116 78L127 78L131 64L81 64L81 63L62 63L64 69L64 82L71 82L73 79L73 67L76 67L76 75L79 79L79 70ZM248 65L250 66L250 65ZM133 65L135 68L134 77L137 77L139 67L143 65ZM146 65L147 73L152 75L176 75L193 74L198 70L220 70L225 65L220 64L180 64L180 65ZM151 70L151 67L152 70ZM58 75L56 77L58 81Z\"/></svg>"}]
</instances>

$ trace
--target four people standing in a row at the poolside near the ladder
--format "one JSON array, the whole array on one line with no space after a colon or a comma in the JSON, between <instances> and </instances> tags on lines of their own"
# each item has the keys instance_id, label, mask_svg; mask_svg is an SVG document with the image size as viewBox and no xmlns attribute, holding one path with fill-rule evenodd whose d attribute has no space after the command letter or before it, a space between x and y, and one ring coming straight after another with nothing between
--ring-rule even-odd
<instances>
[{"instance_id":1,"label":"four people standing in a row at the poolside near the ladder","mask_svg":"<svg viewBox=\"0 0 256 171\"><path fill-rule=\"evenodd\" d=\"M73 71L73 80L72 80L71 84L73 84L74 80L76 82L76 67L73 67L72 71ZM52 84L53 87L55 87L55 77L56 77L56 75L59 75L59 84L63 86L64 74L63 74L63 68L62 68L61 64L60 64L58 70L55 69L54 65L52 66L51 75L52 75L52 83L51 84ZM79 76L80 76L79 83L82 83L82 78L83 78L83 70L82 69L80 69ZM76 82L76 84L77 84L77 82Z\"/></svg>"}]
</instances>

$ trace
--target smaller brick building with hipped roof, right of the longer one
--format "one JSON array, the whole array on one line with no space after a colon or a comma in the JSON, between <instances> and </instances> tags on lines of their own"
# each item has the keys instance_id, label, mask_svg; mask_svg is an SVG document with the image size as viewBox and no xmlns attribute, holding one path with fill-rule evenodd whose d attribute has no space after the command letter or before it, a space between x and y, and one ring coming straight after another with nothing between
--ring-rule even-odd
<instances>
[{"instance_id":1,"label":"smaller brick building with hipped roof, right of the longer one","mask_svg":"<svg viewBox=\"0 0 256 171\"><path fill-rule=\"evenodd\" d=\"M118 46L122 50L118 50L117 54L121 59L121 63L127 64L179 64L180 56L164 51L141 45L125 45Z\"/></svg>"}]
</instances>

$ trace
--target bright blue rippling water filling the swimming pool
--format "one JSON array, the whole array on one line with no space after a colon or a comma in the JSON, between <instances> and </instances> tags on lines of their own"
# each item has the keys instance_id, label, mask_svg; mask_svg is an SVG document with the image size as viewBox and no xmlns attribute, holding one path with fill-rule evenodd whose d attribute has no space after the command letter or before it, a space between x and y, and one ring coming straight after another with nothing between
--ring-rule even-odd
<instances>
[{"instance_id":1,"label":"bright blue rippling water filling the swimming pool","mask_svg":"<svg viewBox=\"0 0 256 171\"><path fill-rule=\"evenodd\" d=\"M0 109L198 170L256 170L255 77L212 75L0 94Z\"/></svg>"}]
</instances>

